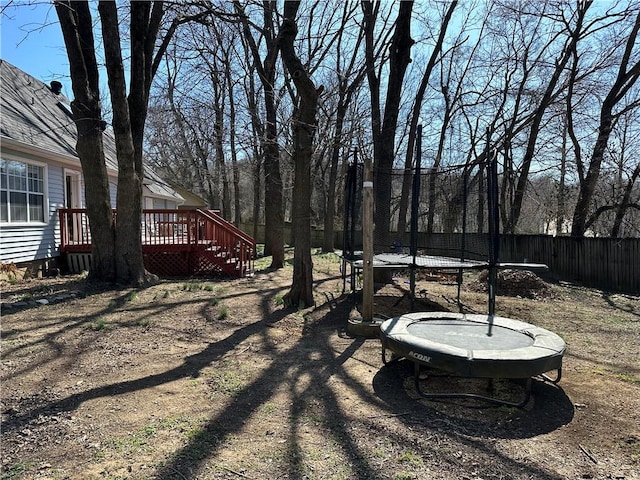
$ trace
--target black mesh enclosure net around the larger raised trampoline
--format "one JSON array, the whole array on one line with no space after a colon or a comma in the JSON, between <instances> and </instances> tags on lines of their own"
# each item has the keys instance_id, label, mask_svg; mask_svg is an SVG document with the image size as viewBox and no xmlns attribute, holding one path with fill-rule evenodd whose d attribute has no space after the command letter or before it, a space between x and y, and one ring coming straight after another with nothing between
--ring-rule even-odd
<instances>
[{"instance_id":1,"label":"black mesh enclosure net around the larger raised trampoline","mask_svg":"<svg viewBox=\"0 0 640 480\"><path fill-rule=\"evenodd\" d=\"M413 254L415 245L420 256L486 261L490 237L485 169L418 172L374 171L374 191L381 182L391 186L390 205L374 206L374 253ZM348 259L362 251L362 177L362 164L352 163L345 179L343 250ZM389 209L388 229L375 220L379 208Z\"/></svg>"}]
</instances>

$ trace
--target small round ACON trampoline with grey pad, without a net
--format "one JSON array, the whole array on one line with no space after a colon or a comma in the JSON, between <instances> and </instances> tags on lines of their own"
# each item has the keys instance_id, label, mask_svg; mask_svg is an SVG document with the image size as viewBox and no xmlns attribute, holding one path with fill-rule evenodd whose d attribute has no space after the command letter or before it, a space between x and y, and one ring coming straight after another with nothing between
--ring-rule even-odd
<instances>
[{"instance_id":1,"label":"small round ACON trampoline with grey pad, without a net","mask_svg":"<svg viewBox=\"0 0 640 480\"><path fill-rule=\"evenodd\" d=\"M380 326L383 360L386 350L394 357L416 365L419 387L420 366L428 366L460 377L527 379L542 376L557 383L562 373L566 344L549 330L509 318L450 312L408 313L386 320ZM545 373L557 371L555 379ZM474 396L469 394L426 394L425 397ZM498 403L493 398L480 397Z\"/></svg>"}]
</instances>

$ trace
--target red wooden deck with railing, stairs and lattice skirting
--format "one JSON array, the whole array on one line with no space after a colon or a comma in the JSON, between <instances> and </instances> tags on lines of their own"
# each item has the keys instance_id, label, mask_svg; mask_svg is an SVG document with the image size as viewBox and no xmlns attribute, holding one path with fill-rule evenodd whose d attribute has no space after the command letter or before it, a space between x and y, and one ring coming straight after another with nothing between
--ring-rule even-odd
<instances>
[{"instance_id":1,"label":"red wooden deck with railing, stairs and lattice skirting","mask_svg":"<svg viewBox=\"0 0 640 480\"><path fill-rule=\"evenodd\" d=\"M114 211L114 216L116 212ZM60 253L91 253L86 209L60 209ZM255 240L214 210L143 210L145 268L161 276L253 274Z\"/></svg>"}]
</instances>

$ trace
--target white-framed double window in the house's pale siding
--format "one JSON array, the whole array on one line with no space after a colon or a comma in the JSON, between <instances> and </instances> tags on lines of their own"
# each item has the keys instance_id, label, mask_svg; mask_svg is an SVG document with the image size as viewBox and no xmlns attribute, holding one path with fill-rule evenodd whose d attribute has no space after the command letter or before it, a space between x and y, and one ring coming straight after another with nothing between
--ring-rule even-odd
<instances>
[{"instance_id":1,"label":"white-framed double window in the house's pale siding","mask_svg":"<svg viewBox=\"0 0 640 480\"><path fill-rule=\"evenodd\" d=\"M44 168L0 159L0 222L44 222Z\"/></svg>"}]
</instances>

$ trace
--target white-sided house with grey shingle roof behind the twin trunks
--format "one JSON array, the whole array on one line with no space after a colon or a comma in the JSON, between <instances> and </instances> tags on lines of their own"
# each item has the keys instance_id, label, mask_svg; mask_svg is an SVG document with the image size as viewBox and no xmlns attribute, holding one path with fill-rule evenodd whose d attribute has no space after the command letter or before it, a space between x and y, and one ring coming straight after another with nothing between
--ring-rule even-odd
<instances>
[{"instance_id":1,"label":"white-sided house with grey shingle roof behind the twin trunks","mask_svg":"<svg viewBox=\"0 0 640 480\"><path fill-rule=\"evenodd\" d=\"M59 256L59 208L84 208L76 128L61 84L46 85L0 59L0 262L47 270ZM117 162L104 132L111 203ZM147 169L145 208L178 208L184 198Z\"/></svg>"}]
</instances>

